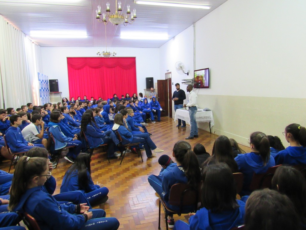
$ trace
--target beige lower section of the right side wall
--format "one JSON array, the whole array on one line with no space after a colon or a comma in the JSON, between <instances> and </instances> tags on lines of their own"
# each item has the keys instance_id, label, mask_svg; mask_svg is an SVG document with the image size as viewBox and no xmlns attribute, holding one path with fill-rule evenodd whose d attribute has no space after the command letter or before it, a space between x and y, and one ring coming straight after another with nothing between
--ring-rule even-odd
<instances>
[{"instance_id":1,"label":"beige lower section of the right side wall","mask_svg":"<svg viewBox=\"0 0 306 230\"><path fill-rule=\"evenodd\" d=\"M200 108L213 111L212 133L226 135L245 145L251 132L261 131L279 136L286 147L288 144L282 135L285 126L305 124L306 99L198 95L198 101ZM199 128L209 132L208 123L200 123Z\"/></svg>"}]
</instances>

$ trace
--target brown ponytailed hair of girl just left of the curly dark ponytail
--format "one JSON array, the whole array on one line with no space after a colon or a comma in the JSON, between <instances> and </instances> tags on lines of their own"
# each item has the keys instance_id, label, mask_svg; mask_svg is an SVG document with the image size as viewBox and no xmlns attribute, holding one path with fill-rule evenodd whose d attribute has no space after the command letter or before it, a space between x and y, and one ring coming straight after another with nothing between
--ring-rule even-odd
<instances>
[{"instance_id":1,"label":"brown ponytailed hair of girl just left of the curly dark ponytail","mask_svg":"<svg viewBox=\"0 0 306 230\"><path fill-rule=\"evenodd\" d=\"M263 166L267 165L270 160L269 140L263 132L253 132L250 136L250 143L259 151L263 160Z\"/></svg>"}]
</instances>

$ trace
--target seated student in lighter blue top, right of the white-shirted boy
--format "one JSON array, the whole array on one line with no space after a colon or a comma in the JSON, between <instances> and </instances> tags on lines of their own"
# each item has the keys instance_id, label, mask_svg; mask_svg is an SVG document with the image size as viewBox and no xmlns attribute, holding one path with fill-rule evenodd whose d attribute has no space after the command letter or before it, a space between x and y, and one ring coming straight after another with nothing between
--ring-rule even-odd
<instances>
[{"instance_id":1,"label":"seated student in lighter blue top, right of the white-shirted boy","mask_svg":"<svg viewBox=\"0 0 306 230\"><path fill-rule=\"evenodd\" d=\"M62 130L59 126L61 119L62 117L60 112L52 111L50 122L48 124L49 132L52 133L55 140L54 150L74 146L74 148L69 148L69 152L64 157L67 161L73 163L74 159L76 159L77 155L82 149L82 142L77 140L77 135L74 135L74 137L67 137L62 133Z\"/></svg>"}]
</instances>

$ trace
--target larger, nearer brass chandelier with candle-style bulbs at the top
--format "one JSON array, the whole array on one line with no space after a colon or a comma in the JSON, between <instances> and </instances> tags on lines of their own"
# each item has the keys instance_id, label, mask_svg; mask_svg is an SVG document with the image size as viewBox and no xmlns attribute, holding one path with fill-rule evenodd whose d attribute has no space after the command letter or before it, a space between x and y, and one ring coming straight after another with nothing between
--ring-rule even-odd
<instances>
[{"instance_id":1,"label":"larger, nearer brass chandelier with candle-style bulbs at the top","mask_svg":"<svg viewBox=\"0 0 306 230\"><path fill-rule=\"evenodd\" d=\"M117 9L117 0L116 0L116 11L115 13L110 13L110 3L106 3L106 13L101 13L101 6L98 6L98 10L96 10L96 19L100 23L104 23L104 25L107 25L110 21L114 25L120 25L123 23L124 26L127 26L128 24L132 24L135 21L136 18L136 9L133 9L133 11L130 11L130 5L127 5L127 12L121 13L121 2L118 2L118 9ZM103 16L103 20L101 21L100 15ZM131 15L131 17L129 17Z\"/></svg>"}]
</instances>

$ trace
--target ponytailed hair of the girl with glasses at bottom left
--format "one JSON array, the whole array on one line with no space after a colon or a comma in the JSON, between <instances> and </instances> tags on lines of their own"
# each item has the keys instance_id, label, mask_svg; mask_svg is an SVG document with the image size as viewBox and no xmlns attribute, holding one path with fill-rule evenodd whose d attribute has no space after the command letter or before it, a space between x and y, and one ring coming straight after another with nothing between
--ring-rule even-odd
<instances>
[{"instance_id":1,"label":"ponytailed hair of the girl with glasses at bottom left","mask_svg":"<svg viewBox=\"0 0 306 230\"><path fill-rule=\"evenodd\" d=\"M34 176L42 174L47 167L47 158L23 156L17 162L10 189L9 211L13 211L21 196L26 192L28 182Z\"/></svg>"}]
</instances>

